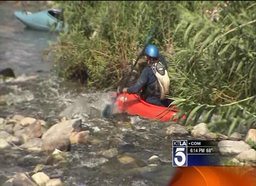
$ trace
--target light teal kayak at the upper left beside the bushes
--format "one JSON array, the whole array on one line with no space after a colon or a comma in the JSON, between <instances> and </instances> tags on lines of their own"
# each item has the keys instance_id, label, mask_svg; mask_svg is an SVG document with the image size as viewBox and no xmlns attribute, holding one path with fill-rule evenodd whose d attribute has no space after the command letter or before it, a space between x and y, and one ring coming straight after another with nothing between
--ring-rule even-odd
<instances>
[{"instance_id":1,"label":"light teal kayak at the upper left beside the bushes","mask_svg":"<svg viewBox=\"0 0 256 186\"><path fill-rule=\"evenodd\" d=\"M56 31L68 28L66 24L65 28L63 28L63 21L59 20L60 14L61 11L59 9L46 9L34 13L24 11L14 12L15 17L27 25L27 27L46 31L49 31L52 25L56 25Z\"/></svg>"}]
</instances>

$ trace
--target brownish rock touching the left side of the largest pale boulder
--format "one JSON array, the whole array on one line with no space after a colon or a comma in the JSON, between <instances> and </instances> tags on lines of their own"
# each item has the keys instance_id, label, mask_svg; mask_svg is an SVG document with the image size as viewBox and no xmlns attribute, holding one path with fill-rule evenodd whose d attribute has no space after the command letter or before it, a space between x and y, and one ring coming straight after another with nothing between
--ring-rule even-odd
<instances>
[{"instance_id":1,"label":"brownish rock touching the left side of the largest pale boulder","mask_svg":"<svg viewBox=\"0 0 256 186\"><path fill-rule=\"evenodd\" d=\"M43 135L41 132L41 125L39 122L34 122L24 128L24 132L21 134L21 141L23 143L29 141L33 138L40 138Z\"/></svg>"}]
</instances>

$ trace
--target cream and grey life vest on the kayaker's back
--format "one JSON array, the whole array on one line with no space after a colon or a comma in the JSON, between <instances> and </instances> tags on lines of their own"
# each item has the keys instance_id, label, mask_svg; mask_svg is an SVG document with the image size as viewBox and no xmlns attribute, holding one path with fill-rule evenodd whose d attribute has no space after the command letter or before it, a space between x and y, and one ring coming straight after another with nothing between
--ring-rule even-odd
<instances>
[{"instance_id":1,"label":"cream and grey life vest on the kayaker's back","mask_svg":"<svg viewBox=\"0 0 256 186\"><path fill-rule=\"evenodd\" d=\"M170 80L167 69L160 61L151 64L151 68L160 85L160 100L163 100L166 98L166 94L169 93Z\"/></svg>"}]
</instances>

